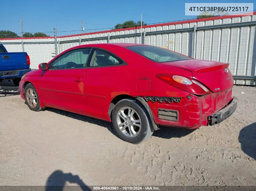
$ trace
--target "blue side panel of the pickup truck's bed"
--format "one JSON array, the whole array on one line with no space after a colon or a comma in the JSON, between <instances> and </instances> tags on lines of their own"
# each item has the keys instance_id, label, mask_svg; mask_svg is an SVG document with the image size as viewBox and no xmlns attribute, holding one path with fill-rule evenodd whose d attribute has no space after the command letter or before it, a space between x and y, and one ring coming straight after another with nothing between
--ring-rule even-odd
<instances>
[{"instance_id":1,"label":"blue side panel of the pickup truck's bed","mask_svg":"<svg viewBox=\"0 0 256 191\"><path fill-rule=\"evenodd\" d=\"M28 69L27 53L0 53L0 71Z\"/></svg>"}]
</instances>

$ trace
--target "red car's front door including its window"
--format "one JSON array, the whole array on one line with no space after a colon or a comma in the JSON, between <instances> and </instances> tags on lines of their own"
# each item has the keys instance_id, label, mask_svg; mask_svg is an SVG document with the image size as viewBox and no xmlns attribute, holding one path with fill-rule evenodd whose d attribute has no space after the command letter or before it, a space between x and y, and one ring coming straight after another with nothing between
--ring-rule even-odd
<instances>
[{"instance_id":1,"label":"red car's front door including its window","mask_svg":"<svg viewBox=\"0 0 256 191\"><path fill-rule=\"evenodd\" d=\"M81 113L85 111L84 75L91 48L64 53L41 75L39 95L46 106Z\"/></svg>"}]
</instances>

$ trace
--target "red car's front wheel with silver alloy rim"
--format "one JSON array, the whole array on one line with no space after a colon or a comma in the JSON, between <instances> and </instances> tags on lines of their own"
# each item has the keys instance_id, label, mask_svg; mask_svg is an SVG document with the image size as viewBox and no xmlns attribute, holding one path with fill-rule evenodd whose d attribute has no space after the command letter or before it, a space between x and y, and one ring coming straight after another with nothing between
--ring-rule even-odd
<instances>
[{"instance_id":1,"label":"red car's front wheel with silver alloy rim","mask_svg":"<svg viewBox=\"0 0 256 191\"><path fill-rule=\"evenodd\" d=\"M39 97L35 90L35 87L32 84L26 85L24 89L25 103L28 105L28 108L32 111L41 111L44 108L40 107Z\"/></svg>"}]
</instances>

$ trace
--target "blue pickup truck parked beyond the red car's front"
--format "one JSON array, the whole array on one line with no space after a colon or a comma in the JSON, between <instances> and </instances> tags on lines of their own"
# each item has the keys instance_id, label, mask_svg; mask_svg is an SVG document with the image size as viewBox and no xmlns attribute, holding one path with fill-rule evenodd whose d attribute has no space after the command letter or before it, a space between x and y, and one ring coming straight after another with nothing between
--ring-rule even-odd
<instances>
[{"instance_id":1,"label":"blue pickup truck parked beyond the red car's front","mask_svg":"<svg viewBox=\"0 0 256 191\"><path fill-rule=\"evenodd\" d=\"M26 52L8 53L0 44L0 82L12 79L15 86L19 86L21 77L31 71L30 59Z\"/></svg>"}]
</instances>

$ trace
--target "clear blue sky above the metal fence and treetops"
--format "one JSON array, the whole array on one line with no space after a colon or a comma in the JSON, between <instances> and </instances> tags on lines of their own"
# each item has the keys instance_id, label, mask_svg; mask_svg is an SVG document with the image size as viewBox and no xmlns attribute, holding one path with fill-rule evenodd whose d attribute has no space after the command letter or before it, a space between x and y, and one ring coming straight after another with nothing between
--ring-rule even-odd
<instances>
[{"instance_id":1,"label":"clear blue sky above the metal fence and treetops","mask_svg":"<svg viewBox=\"0 0 256 191\"><path fill-rule=\"evenodd\" d=\"M185 15L185 3L210 3L212 1L191 0L8 0L1 2L0 30L11 30L21 35L19 20L23 20L23 32L45 32L53 36L82 33L81 21L84 21L85 32L98 28L110 28L127 20L147 24L169 22L196 18ZM241 0L214 1L214 3L241 3ZM246 3L255 0L247 0ZM102 29L103 30L103 29ZM70 32L61 32L70 31Z\"/></svg>"}]
</instances>

